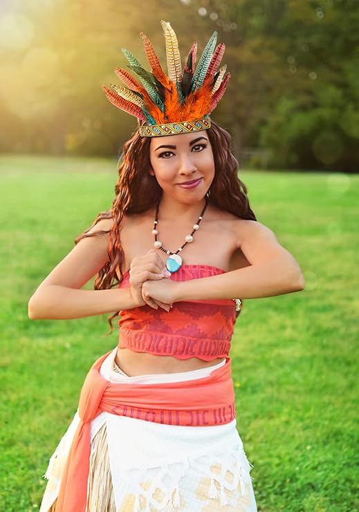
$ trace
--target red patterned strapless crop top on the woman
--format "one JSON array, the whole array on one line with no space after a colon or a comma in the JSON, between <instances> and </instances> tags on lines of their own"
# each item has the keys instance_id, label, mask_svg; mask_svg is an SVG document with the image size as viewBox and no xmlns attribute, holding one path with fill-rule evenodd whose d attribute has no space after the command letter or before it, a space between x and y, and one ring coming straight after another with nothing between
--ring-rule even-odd
<instances>
[{"instance_id":1,"label":"red patterned strapless crop top on the woman","mask_svg":"<svg viewBox=\"0 0 359 512\"><path fill-rule=\"evenodd\" d=\"M212 265L182 265L172 281L189 281L224 274ZM120 287L129 287L125 272ZM232 299L176 302L169 312L149 305L120 311L118 348L177 359L211 361L226 357L236 320Z\"/></svg>"}]
</instances>

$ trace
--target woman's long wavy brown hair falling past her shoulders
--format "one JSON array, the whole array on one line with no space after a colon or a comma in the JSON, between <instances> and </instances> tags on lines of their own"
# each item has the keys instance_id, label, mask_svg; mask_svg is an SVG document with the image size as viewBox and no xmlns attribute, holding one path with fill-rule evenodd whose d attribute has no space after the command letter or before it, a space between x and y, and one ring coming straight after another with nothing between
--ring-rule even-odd
<instances>
[{"instance_id":1,"label":"woman's long wavy brown hair falling past her shoulders","mask_svg":"<svg viewBox=\"0 0 359 512\"><path fill-rule=\"evenodd\" d=\"M246 185L238 178L238 162L230 151L230 134L214 121L207 133L212 145L215 166L214 180L208 191L208 202L239 218L257 220L250 209ZM149 174L151 169L150 141L150 138L141 137L137 129L134 135L125 142L118 166L118 182L115 186L116 196L112 208L98 214L92 225L75 238L76 245L82 238L109 234L109 260L95 278L95 290L112 288L122 281L121 263L124 252L120 232L124 216L141 214L154 207L160 200L162 189L156 178ZM87 232L100 220L109 218L113 219L111 229L95 233ZM120 272L120 278L118 278L116 269ZM111 326L109 334L113 331L112 319L118 313L114 313L108 319Z\"/></svg>"}]
</instances>

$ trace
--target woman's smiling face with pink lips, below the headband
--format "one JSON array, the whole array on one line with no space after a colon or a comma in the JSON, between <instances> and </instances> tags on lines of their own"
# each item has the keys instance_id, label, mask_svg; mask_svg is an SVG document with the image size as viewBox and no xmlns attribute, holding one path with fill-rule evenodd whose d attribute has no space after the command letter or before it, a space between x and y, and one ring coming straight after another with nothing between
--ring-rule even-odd
<instances>
[{"instance_id":1,"label":"woman's smiling face with pink lips, below the headband","mask_svg":"<svg viewBox=\"0 0 359 512\"><path fill-rule=\"evenodd\" d=\"M187 204L204 198L214 178L206 130L154 137L149 146L151 175L167 196ZM194 182L192 187L190 183Z\"/></svg>"}]
</instances>

